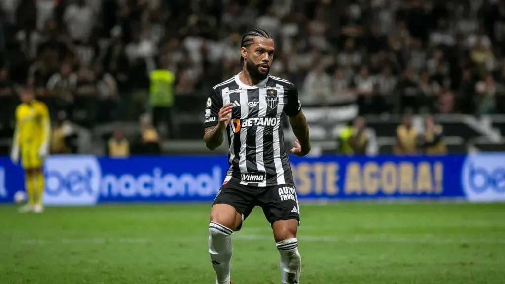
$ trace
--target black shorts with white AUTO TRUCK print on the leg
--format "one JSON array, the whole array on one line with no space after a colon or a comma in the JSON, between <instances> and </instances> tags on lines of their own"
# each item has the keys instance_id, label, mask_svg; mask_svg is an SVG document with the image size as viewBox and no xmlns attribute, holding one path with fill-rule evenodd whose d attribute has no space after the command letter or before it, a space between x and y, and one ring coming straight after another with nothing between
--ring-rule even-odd
<instances>
[{"instance_id":1,"label":"black shorts with white AUTO TRUCK print on the leg","mask_svg":"<svg viewBox=\"0 0 505 284\"><path fill-rule=\"evenodd\" d=\"M294 185L282 184L266 187L247 186L230 181L221 186L214 204L228 204L242 215L242 222L255 206L260 206L270 225L280 220L300 221L298 198ZM242 223L236 231L240 230Z\"/></svg>"}]
</instances>

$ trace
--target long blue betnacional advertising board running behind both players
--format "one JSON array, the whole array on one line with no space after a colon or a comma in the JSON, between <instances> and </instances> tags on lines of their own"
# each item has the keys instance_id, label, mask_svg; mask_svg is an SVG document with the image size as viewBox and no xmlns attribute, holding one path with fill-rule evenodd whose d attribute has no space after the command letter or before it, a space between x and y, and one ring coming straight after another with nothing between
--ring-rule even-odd
<instances>
[{"instance_id":1,"label":"long blue betnacional advertising board running behind both players","mask_svg":"<svg viewBox=\"0 0 505 284\"><path fill-rule=\"evenodd\" d=\"M505 201L505 153L443 157L290 158L302 200L466 199ZM210 202L228 168L224 156L51 156L46 205ZM0 203L24 188L23 170L0 158Z\"/></svg>"}]
</instances>

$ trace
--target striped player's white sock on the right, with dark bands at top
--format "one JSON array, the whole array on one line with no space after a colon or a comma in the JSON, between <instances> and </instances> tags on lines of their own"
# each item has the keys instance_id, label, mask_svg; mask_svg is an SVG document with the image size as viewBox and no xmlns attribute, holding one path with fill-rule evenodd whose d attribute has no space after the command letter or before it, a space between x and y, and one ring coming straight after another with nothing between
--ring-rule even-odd
<instances>
[{"instance_id":1,"label":"striped player's white sock on the right, with dark bands at top","mask_svg":"<svg viewBox=\"0 0 505 284\"><path fill-rule=\"evenodd\" d=\"M298 240L286 239L277 244L281 255L280 271L282 284L297 284L300 280L301 258L298 253Z\"/></svg>"}]
</instances>

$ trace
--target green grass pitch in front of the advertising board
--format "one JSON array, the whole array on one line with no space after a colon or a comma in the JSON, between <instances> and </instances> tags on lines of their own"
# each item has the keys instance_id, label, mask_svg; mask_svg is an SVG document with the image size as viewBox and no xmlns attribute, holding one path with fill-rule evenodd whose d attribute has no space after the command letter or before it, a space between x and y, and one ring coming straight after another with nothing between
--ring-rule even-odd
<instances>
[{"instance_id":1,"label":"green grass pitch in front of the advertising board","mask_svg":"<svg viewBox=\"0 0 505 284\"><path fill-rule=\"evenodd\" d=\"M1 284L213 284L209 205L0 206ZM505 204L300 205L301 284L505 283ZM280 283L256 208L235 232L234 284Z\"/></svg>"}]
</instances>

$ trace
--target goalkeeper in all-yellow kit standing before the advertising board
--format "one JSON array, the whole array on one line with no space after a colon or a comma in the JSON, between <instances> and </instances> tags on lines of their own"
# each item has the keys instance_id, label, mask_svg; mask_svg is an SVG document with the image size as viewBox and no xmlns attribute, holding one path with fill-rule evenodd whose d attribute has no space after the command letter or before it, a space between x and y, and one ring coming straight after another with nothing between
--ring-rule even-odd
<instances>
[{"instance_id":1,"label":"goalkeeper in all-yellow kit standing before the advertising board","mask_svg":"<svg viewBox=\"0 0 505 284\"><path fill-rule=\"evenodd\" d=\"M12 145L11 159L14 164L19 161L25 170L25 189L28 203L20 208L20 212L43 211L42 193L44 176L42 165L49 152L49 137L51 137L51 122L47 106L35 100L33 90L21 90L22 103L16 108L16 130ZM35 203L35 193L37 202Z\"/></svg>"}]
</instances>

